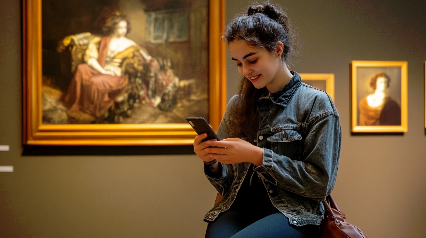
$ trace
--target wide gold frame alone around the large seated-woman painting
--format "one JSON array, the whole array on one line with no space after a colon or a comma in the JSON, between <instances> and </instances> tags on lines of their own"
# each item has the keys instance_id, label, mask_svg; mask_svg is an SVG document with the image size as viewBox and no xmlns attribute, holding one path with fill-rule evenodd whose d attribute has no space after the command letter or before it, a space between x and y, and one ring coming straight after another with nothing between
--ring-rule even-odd
<instances>
[{"instance_id":1,"label":"wide gold frame alone around the large seated-woman painting","mask_svg":"<svg viewBox=\"0 0 426 238\"><path fill-rule=\"evenodd\" d=\"M202 0L198 1L196 6ZM73 2L73 0L71 1ZM129 3L117 1L132 9ZM141 1L143 2L143 1ZM206 119L217 130L226 107L226 47L220 40L225 26L225 0L205 0L206 12L190 11L189 14L204 14L207 23L203 28L208 43L203 61L206 68L206 91L203 96L207 111ZM133 1L132 4L138 3ZM186 1L185 4L187 4ZM68 4L68 3L67 3ZM72 4L72 3L69 3ZM101 3L98 3L101 4ZM121 4L121 5L120 5ZM126 5L127 4L127 5ZM140 4L140 3L138 3ZM147 5L156 3L147 1ZM178 3L184 4L184 3ZM56 4L57 5L57 4ZM43 5L43 11L45 11ZM192 9L193 10L193 9ZM47 11L47 10L46 10ZM159 11L160 12L160 11ZM161 14L168 14L161 11ZM60 14L60 13L57 13ZM159 14L160 15L160 14ZM172 14L169 14L172 15ZM173 16L175 16L174 14ZM58 16L59 18L61 16ZM190 15L193 17L193 15ZM43 123L42 88L44 49L42 50L42 0L23 1L23 144L26 145L189 145L196 133L186 122L178 123L90 123L49 124ZM164 18L166 19L166 18ZM190 19L190 18L188 18ZM84 20L84 19L83 19ZM133 19L135 20L135 18ZM179 19L178 19L179 20ZM52 22L49 22L52 24ZM203 23L200 23L203 24ZM140 25L140 24L139 24ZM133 24L133 30L138 24ZM169 28L167 28L169 30ZM172 29L173 31L173 29ZM176 27L174 29L176 31ZM178 29L177 31L180 31ZM190 35L190 34L188 34ZM173 35L176 44L185 37ZM44 47L44 45L43 45ZM203 47L203 45L197 47ZM42 52L43 51L43 52ZM179 85L181 86L181 85ZM196 87L194 85L194 87ZM204 99L204 97L206 99ZM190 115L197 116L197 115Z\"/></svg>"}]
</instances>

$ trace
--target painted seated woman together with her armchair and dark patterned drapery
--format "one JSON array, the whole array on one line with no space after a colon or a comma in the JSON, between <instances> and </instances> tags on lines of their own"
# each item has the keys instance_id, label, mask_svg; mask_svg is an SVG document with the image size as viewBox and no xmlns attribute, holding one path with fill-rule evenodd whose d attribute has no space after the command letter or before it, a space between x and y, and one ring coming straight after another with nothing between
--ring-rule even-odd
<instances>
[{"instance_id":1,"label":"painted seated woman together with her armchair and dark patterned drapery","mask_svg":"<svg viewBox=\"0 0 426 238\"><path fill-rule=\"evenodd\" d=\"M143 95L153 107L160 104L164 93L164 90L158 90L159 85L171 84L175 89L177 87L178 78L173 75L173 71L162 70L157 59L126 37L130 23L124 16L115 12L107 19L103 30L107 33L103 37L85 32L65 37L62 41L62 48L71 42L87 47L83 54L73 56L75 73L66 94L61 98L63 105L68 108L71 122L95 122L105 118L120 122L122 116L131 113L133 103L141 99L141 94L148 91L148 85L142 81L152 80L149 77L161 80L156 85L156 94L149 92L149 96ZM123 106L119 108L120 102L124 100L127 105L125 110Z\"/></svg>"}]
</instances>

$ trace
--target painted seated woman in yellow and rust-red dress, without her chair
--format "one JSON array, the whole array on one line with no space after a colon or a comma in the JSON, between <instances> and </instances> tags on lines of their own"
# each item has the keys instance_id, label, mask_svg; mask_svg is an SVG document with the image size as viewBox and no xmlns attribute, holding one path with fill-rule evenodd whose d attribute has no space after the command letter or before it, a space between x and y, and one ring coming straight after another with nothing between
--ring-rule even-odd
<instances>
[{"instance_id":1,"label":"painted seated woman in yellow and rust-red dress, without her chair","mask_svg":"<svg viewBox=\"0 0 426 238\"><path fill-rule=\"evenodd\" d=\"M107 36L95 36L90 40L84 63L78 65L63 98L69 113L81 111L94 118L103 116L129 82L125 72L127 65L141 71L142 64L152 59L126 37L130 24L118 12L107 19L103 30Z\"/></svg>"}]
</instances>

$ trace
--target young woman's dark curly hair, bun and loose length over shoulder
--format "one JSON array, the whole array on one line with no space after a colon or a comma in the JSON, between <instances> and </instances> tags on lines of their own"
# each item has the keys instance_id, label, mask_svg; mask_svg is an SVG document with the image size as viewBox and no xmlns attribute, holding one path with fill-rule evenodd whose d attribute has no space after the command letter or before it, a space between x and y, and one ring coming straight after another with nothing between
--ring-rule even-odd
<instances>
[{"instance_id":1,"label":"young woman's dark curly hair, bun and loose length over shoulder","mask_svg":"<svg viewBox=\"0 0 426 238\"><path fill-rule=\"evenodd\" d=\"M265 48L272 53L277 42L284 45L281 55L287 63L296 55L299 48L298 35L291 28L290 20L284 9L271 3L255 3L249 6L246 14L239 14L225 27L222 39L229 46L234 40L245 40L254 47ZM230 111L230 120L227 122L231 137L243 137L254 144L259 119L255 111L254 102L266 89L256 89L244 76L239 81L236 104Z\"/></svg>"}]
</instances>

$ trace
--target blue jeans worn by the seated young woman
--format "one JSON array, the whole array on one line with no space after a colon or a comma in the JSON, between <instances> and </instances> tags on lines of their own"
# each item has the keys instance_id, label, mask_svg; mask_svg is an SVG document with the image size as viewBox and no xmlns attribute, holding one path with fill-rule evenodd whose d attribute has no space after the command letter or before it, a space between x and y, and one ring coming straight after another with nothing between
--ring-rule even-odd
<instances>
[{"instance_id":1,"label":"blue jeans worn by the seated young woman","mask_svg":"<svg viewBox=\"0 0 426 238\"><path fill-rule=\"evenodd\" d=\"M207 225L206 238L318 238L317 225L292 226L282 213L256 220L247 212L222 212Z\"/></svg>"}]
</instances>

